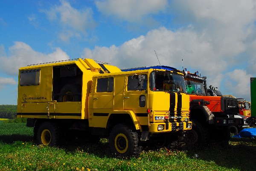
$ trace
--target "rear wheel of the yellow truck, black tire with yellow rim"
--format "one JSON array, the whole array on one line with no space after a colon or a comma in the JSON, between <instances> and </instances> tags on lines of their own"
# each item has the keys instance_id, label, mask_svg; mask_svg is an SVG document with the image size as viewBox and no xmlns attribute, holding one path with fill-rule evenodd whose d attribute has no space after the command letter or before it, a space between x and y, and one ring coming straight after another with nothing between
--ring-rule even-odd
<instances>
[{"instance_id":1,"label":"rear wheel of the yellow truck, black tire with yellow rim","mask_svg":"<svg viewBox=\"0 0 256 171\"><path fill-rule=\"evenodd\" d=\"M58 127L49 122L39 125L36 134L36 143L38 145L55 146L58 144Z\"/></svg>"}]
</instances>

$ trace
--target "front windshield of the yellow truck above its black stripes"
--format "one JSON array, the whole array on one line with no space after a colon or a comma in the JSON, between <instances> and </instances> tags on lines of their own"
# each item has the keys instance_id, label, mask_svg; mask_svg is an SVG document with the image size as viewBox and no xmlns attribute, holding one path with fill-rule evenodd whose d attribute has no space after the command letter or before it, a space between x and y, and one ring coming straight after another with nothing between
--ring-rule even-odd
<instances>
[{"instance_id":1,"label":"front windshield of the yellow truck above its black stripes","mask_svg":"<svg viewBox=\"0 0 256 171\"><path fill-rule=\"evenodd\" d=\"M165 71L153 71L149 76L151 91L173 91L186 93L185 80L182 75Z\"/></svg>"}]
</instances>

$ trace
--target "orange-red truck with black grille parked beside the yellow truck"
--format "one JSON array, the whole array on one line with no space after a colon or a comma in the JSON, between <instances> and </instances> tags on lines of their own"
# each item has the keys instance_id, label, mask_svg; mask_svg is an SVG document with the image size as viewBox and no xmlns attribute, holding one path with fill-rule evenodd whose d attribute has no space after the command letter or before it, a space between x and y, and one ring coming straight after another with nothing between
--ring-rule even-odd
<instances>
[{"instance_id":1,"label":"orange-red truck with black grille parked beside the yellow truck","mask_svg":"<svg viewBox=\"0 0 256 171\"><path fill-rule=\"evenodd\" d=\"M185 134L185 142L203 145L209 137L215 136L221 140L229 140L230 133L236 133L237 128L244 125L243 118L239 116L238 101L217 95L218 91L214 91L216 96L209 96L207 77L200 77L198 71L189 73L186 68L183 72L190 95L190 119L193 122L192 130Z\"/></svg>"}]
</instances>

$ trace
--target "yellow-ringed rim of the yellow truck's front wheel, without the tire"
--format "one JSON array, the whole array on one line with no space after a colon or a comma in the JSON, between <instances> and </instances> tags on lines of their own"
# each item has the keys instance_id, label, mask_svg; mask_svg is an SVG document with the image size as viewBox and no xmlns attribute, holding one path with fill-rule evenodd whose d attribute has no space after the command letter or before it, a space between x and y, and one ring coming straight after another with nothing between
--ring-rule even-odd
<instances>
[{"instance_id":1,"label":"yellow-ringed rim of the yellow truck's front wheel, without the tire","mask_svg":"<svg viewBox=\"0 0 256 171\"><path fill-rule=\"evenodd\" d=\"M115 147L119 153L125 153L128 149L128 139L125 134L117 134L115 138Z\"/></svg>"}]
</instances>

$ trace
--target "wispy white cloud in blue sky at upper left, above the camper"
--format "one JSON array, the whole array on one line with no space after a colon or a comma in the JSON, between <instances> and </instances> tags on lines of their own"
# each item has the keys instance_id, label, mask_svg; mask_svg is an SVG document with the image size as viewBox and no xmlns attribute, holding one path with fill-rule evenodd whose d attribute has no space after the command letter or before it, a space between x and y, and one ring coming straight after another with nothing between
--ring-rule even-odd
<instances>
[{"instance_id":1,"label":"wispy white cloud in blue sky at upper left, above the camper","mask_svg":"<svg viewBox=\"0 0 256 171\"><path fill-rule=\"evenodd\" d=\"M60 2L60 6L54 6L49 10L44 10L44 12L47 14L49 20L57 20L57 22L61 24L61 40L68 41L75 35L77 37L78 34L86 36L87 29L96 26L96 22L93 20L92 9L78 10L73 8L70 3L65 0L60 0Z\"/></svg>"}]
</instances>

